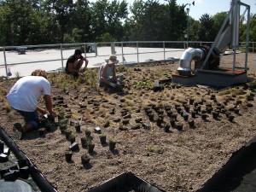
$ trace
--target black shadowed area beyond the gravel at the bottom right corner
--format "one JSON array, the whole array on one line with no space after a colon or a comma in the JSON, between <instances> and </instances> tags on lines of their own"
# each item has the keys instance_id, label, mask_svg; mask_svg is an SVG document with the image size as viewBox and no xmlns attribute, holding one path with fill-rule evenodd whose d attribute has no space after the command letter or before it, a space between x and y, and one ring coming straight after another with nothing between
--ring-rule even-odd
<instances>
[{"instance_id":1,"label":"black shadowed area beyond the gravel at the bottom right corner","mask_svg":"<svg viewBox=\"0 0 256 192\"><path fill-rule=\"evenodd\" d=\"M256 137L253 137L197 192L255 192L255 183Z\"/></svg>"}]
</instances>

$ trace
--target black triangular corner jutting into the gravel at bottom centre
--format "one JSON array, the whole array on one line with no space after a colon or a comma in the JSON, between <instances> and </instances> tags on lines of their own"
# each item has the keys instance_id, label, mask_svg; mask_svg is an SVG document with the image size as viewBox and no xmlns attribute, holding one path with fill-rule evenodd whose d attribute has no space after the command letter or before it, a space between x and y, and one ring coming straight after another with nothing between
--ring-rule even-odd
<instances>
[{"instance_id":1,"label":"black triangular corner jutting into the gravel at bottom centre","mask_svg":"<svg viewBox=\"0 0 256 192\"><path fill-rule=\"evenodd\" d=\"M143 179L135 176L131 172L124 172L117 177L100 184L99 186L90 189L86 192L165 192L158 189L144 181Z\"/></svg>"}]
</instances>

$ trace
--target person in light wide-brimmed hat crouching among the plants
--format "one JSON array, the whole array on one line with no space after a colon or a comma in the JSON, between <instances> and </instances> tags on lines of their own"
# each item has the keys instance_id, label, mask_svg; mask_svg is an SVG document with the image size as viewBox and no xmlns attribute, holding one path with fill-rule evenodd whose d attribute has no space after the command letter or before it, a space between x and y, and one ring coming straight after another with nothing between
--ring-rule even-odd
<instances>
[{"instance_id":1,"label":"person in light wide-brimmed hat crouching among the plants","mask_svg":"<svg viewBox=\"0 0 256 192\"><path fill-rule=\"evenodd\" d=\"M115 88L117 86L118 79L116 76L116 64L119 63L116 55L109 55L109 58L105 60L106 63L100 67L99 81L100 86L111 86Z\"/></svg>"}]
</instances>

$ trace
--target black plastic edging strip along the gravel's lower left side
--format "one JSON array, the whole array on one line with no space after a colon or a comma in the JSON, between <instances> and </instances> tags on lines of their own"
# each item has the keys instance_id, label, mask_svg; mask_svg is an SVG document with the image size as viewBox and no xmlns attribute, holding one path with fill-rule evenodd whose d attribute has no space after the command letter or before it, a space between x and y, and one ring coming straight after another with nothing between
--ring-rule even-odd
<instances>
[{"instance_id":1,"label":"black plastic edging strip along the gravel's lower left side","mask_svg":"<svg viewBox=\"0 0 256 192\"><path fill-rule=\"evenodd\" d=\"M35 183L37 183L38 188L41 189L41 191L45 192L57 192L57 190L46 180L46 178L43 176L41 172L38 171L38 169L32 164L31 160L29 160L26 157L26 154L24 154L20 148L16 145L13 139L9 137L9 135L3 130L3 128L0 126L0 137L3 140L3 142L10 148L10 150L15 154L17 160L27 160L29 163L29 169L30 174Z\"/></svg>"}]
</instances>

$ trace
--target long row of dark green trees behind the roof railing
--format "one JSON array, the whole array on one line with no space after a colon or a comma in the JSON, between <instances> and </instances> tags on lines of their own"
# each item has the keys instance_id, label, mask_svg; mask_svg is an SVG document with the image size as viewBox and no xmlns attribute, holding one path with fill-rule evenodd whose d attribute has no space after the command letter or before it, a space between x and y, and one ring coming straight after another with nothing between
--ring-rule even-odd
<instances>
[{"instance_id":1,"label":"long row of dark green trees behind the roof railing","mask_svg":"<svg viewBox=\"0 0 256 192\"><path fill-rule=\"evenodd\" d=\"M0 44L60 44L111 41L183 41L189 20L189 41L213 41L227 12L194 20L176 0L3 0L0 2ZM241 41L247 26L241 22ZM251 15L250 41L256 41Z\"/></svg>"}]
</instances>

